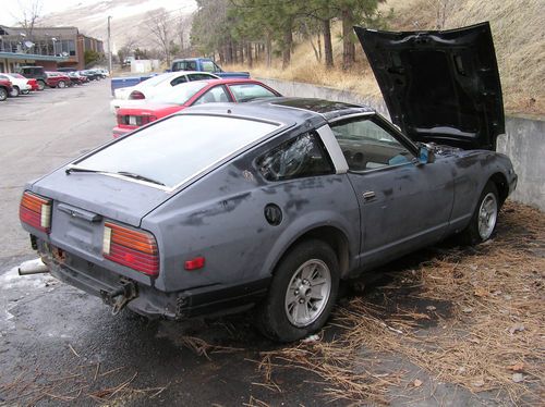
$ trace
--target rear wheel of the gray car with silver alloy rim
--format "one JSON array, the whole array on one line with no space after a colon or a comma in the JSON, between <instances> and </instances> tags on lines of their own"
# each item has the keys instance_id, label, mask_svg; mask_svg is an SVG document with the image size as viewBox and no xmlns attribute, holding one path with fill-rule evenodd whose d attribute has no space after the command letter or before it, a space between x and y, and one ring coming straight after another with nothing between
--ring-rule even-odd
<instances>
[{"instance_id":1,"label":"rear wheel of the gray car with silver alloy rim","mask_svg":"<svg viewBox=\"0 0 545 407\"><path fill-rule=\"evenodd\" d=\"M275 270L267 298L257 309L257 328L278 342L318 331L335 305L339 280L339 261L328 244L310 239L296 245Z\"/></svg>"}]
</instances>

